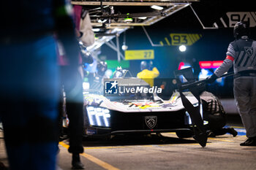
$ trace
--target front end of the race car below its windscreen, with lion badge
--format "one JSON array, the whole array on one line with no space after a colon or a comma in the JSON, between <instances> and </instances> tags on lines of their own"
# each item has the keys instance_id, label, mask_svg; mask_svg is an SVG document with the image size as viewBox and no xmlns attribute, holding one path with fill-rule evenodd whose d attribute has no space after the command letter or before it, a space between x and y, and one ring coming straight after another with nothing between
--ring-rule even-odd
<instances>
[{"instance_id":1,"label":"front end of the race car below its windscreen, with lion badge","mask_svg":"<svg viewBox=\"0 0 256 170\"><path fill-rule=\"evenodd\" d=\"M190 131L192 121L178 92L167 101L154 94L133 97L115 100L86 94L86 135Z\"/></svg>"}]
</instances>

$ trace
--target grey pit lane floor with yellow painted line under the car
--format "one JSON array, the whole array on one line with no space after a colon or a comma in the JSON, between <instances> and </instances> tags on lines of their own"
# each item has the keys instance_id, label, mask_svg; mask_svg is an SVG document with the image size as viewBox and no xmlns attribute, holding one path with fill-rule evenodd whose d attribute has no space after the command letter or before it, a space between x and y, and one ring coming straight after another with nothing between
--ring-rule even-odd
<instances>
[{"instance_id":1,"label":"grey pit lane floor with yellow painted line under the car","mask_svg":"<svg viewBox=\"0 0 256 170\"><path fill-rule=\"evenodd\" d=\"M208 138L206 147L194 139L178 139L176 134L162 136L117 136L113 139L90 139L83 142L80 155L85 169L256 169L256 147L241 147L246 139L240 123L233 123L238 136L230 134ZM1 134L2 135L2 134ZM60 142L59 170L71 169L68 141ZM21 155L20 155L21 156ZM0 161L7 164L3 139Z\"/></svg>"}]
</instances>

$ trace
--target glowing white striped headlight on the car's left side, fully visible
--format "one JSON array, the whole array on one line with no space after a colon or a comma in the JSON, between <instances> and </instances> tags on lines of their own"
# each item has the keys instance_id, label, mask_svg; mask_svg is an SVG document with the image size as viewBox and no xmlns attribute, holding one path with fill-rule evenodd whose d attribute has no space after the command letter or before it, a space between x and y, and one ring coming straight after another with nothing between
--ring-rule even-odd
<instances>
[{"instance_id":1,"label":"glowing white striped headlight on the car's left side, fully visible","mask_svg":"<svg viewBox=\"0 0 256 170\"><path fill-rule=\"evenodd\" d=\"M90 125L110 127L110 111L102 107L87 107Z\"/></svg>"}]
</instances>

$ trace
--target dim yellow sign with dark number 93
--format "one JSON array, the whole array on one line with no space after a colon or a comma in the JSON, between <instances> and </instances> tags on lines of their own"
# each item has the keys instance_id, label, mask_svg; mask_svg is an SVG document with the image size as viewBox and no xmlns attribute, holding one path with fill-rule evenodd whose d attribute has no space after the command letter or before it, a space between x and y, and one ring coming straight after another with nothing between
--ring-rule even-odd
<instances>
[{"instance_id":1,"label":"dim yellow sign with dark number 93","mask_svg":"<svg viewBox=\"0 0 256 170\"><path fill-rule=\"evenodd\" d=\"M193 45L201 34L170 34L171 45Z\"/></svg>"}]
</instances>

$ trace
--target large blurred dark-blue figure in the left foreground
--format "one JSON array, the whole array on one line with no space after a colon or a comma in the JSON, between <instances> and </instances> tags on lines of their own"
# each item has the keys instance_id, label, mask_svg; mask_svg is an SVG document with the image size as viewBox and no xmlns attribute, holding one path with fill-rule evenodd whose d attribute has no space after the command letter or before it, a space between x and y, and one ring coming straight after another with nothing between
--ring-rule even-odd
<instances>
[{"instance_id":1,"label":"large blurred dark-blue figure in the left foreground","mask_svg":"<svg viewBox=\"0 0 256 170\"><path fill-rule=\"evenodd\" d=\"M69 72L78 43L64 1L3 1L0 28L0 116L10 169L56 169L59 67L63 43ZM68 41L67 41L68 40Z\"/></svg>"}]
</instances>

